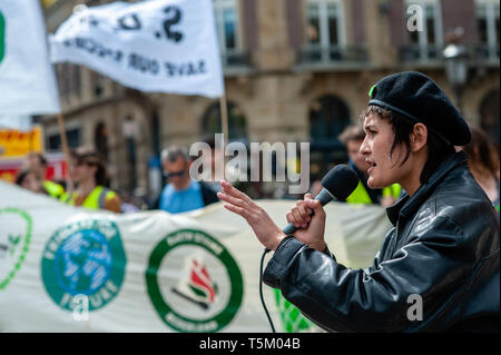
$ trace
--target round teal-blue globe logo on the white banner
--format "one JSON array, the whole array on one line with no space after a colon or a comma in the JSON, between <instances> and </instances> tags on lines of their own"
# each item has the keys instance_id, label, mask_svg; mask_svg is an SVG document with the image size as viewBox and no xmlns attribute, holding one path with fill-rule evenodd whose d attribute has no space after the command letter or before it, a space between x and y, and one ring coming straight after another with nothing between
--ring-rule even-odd
<instances>
[{"instance_id":1,"label":"round teal-blue globe logo on the white banner","mask_svg":"<svg viewBox=\"0 0 501 355\"><path fill-rule=\"evenodd\" d=\"M86 295L89 310L114 299L124 283L126 255L117 226L82 220L55 231L42 253L41 273L50 298L73 310L73 297Z\"/></svg>"}]
</instances>

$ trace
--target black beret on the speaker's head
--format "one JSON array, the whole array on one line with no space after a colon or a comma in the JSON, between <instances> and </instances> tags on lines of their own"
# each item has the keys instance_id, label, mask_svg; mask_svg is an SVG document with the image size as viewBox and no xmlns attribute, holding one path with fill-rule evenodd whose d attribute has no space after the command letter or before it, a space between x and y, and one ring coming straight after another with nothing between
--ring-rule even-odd
<instances>
[{"instance_id":1,"label":"black beret on the speaker's head","mask_svg":"<svg viewBox=\"0 0 501 355\"><path fill-rule=\"evenodd\" d=\"M397 72L381 79L371 88L369 105L399 112L454 145L471 140L468 124L445 92L429 77L418 71Z\"/></svg>"}]
</instances>

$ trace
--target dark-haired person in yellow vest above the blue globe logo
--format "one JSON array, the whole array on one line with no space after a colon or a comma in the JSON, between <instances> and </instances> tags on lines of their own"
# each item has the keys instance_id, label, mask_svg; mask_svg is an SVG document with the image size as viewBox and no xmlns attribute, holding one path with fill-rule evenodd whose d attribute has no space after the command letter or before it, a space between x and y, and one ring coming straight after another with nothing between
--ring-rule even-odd
<instances>
[{"instance_id":1,"label":"dark-haired person in yellow vest above the blue globe logo","mask_svg":"<svg viewBox=\"0 0 501 355\"><path fill-rule=\"evenodd\" d=\"M72 206L121 213L120 197L105 187L106 167L99 154L87 149L73 151L72 156L72 177L77 187L71 195L65 193L61 200Z\"/></svg>"}]
</instances>

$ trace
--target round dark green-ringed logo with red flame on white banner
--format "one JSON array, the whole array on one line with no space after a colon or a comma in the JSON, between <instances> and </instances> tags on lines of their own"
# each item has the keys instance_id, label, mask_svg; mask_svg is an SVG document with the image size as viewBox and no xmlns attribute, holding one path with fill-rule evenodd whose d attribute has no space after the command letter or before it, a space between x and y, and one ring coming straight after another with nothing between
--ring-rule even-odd
<instances>
[{"instance_id":1,"label":"round dark green-ringed logo with red flame on white banner","mask_svg":"<svg viewBox=\"0 0 501 355\"><path fill-rule=\"evenodd\" d=\"M150 300L178 332L217 332L242 306L244 280L229 252L202 230L181 229L161 239L146 270Z\"/></svg>"}]
</instances>

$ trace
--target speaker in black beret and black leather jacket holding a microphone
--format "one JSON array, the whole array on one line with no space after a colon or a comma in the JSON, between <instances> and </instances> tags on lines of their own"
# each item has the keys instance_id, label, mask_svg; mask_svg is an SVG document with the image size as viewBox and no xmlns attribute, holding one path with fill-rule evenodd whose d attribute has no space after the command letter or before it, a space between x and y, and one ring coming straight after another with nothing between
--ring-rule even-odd
<instances>
[{"instance_id":1,"label":"speaker in black beret and black leather jacket holding a microphone","mask_svg":"<svg viewBox=\"0 0 501 355\"><path fill-rule=\"evenodd\" d=\"M365 269L328 252L325 211L313 196L287 214L299 229L286 236L222 181L225 207L275 252L264 283L331 332L499 332L499 224L454 149L471 139L461 114L431 78L399 72L371 89L364 129L369 187L400 184L406 193L386 209L394 227Z\"/></svg>"}]
</instances>

